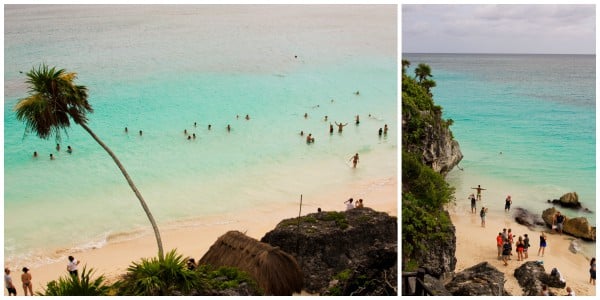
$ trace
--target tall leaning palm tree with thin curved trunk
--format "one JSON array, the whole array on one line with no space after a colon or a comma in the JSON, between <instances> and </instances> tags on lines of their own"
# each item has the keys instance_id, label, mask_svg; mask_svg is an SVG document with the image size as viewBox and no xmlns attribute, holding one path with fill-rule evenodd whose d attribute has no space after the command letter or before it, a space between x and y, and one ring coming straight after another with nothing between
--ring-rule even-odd
<instances>
[{"instance_id":1,"label":"tall leaning palm tree with thin curved trunk","mask_svg":"<svg viewBox=\"0 0 600 300\"><path fill-rule=\"evenodd\" d=\"M60 131L66 130L71 125L70 119L73 119L75 124L83 127L112 157L139 199L154 229L156 243L158 244L158 256L162 258L163 247L160 233L146 201L144 201L142 194L138 191L117 156L87 126L86 114L94 110L87 100L87 88L73 82L77 74L66 72L64 69L56 70L56 67L50 69L47 65L42 64L37 69L34 67L29 71L27 77L29 97L20 99L14 108L17 119L25 122L25 130L35 132L39 138L48 139L53 135L60 138Z\"/></svg>"}]
</instances>

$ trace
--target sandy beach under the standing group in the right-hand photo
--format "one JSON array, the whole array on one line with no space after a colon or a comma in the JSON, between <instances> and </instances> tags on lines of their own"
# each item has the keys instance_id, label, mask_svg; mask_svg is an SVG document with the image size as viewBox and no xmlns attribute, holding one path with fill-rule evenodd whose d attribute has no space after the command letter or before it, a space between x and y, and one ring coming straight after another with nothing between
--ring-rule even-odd
<instances>
[{"instance_id":1,"label":"sandy beach under the standing group in the right-hand photo","mask_svg":"<svg viewBox=\"0 0 600 300\"><path fill-rule=\"evenodd\" d=\"M541 257L537 255L540 231L532 231L526 226L518 224L510 213L488 212L486 227L481 227L481 218L479 217L481 203L478 202L477 205L478 210L475 214L471 214L470 207L466 206L455 205L448 208L456 229L456 273L487 261L504 273L505 290L513 296L521 296L523 291L514 276L514 270L521 265L521 262L516 261L516 252L513 251L513 259L509 261L508 266L504 266L503 262L497 258L496 236L503 228L511 228L516 238L523 234L528 234L530 238L529 258L525 261L543 261L546 273L550 273L552 268L557 268L565 278L567 286L570 286L577 296L596 295L596 286L589 283L588 270L591 257L587 257L582 252L574 254L569 251L569 244L575 237L559 235L545 229L548 246L545 249L545 255ZM474 239L473 237L476 236L485 238ZM565 289L550 288L550 290L557 295L566 295Z\"/></svg>"}]
</instances>

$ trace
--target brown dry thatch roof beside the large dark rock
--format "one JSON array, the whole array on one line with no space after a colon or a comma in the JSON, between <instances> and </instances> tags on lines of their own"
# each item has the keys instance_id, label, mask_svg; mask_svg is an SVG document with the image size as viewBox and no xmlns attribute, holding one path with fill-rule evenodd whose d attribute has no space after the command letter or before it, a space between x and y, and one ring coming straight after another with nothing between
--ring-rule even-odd
<instances>
[{"instance_id":1,"label":"brown dry thatch roof beside the large dark rock","mask_svg":"<svg viewBox=\"0 0 600 300\"><path fill-rule=\"evenodd\" d=\"M302 270L293 256L239 231L221 236L199 263L245 271L267 295L292 295L302 288Z\"/></svg>"}]
</instances>

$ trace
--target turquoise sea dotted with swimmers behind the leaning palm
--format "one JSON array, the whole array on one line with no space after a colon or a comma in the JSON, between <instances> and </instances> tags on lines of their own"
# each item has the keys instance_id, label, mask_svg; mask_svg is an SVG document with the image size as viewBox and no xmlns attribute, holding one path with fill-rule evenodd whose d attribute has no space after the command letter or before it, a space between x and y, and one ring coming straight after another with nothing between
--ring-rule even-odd
<instances>
[{"instance_id":1,"label":"turquoise sea dotted with swimmers behind the leaning palm","mask_svg":"<svg viewBox=\"0 0 600 300\"><path fill-rule=\"evenodd\" d=\"M21 72L46 63L78 73L94 108L89 126L163 228L297 203L300 194L316 210L325 204L310 199L324 191L397 176L397 25L389 8L283 6L275 11L290 17L271 20L260 6L5 6L5 261L35 266L150 230L116 165L83 129L59 141L25 132L13 111L28 95ZM349 13L385 16L371 24L381 35L354 39L362 25L347 26ZM348 125L330 134L330 122ZM385 124L390 134L378 137ZM307 145L300 131L316 142ZM354 170L348 159L356 152Z\"/></svg>"}]
</instances>

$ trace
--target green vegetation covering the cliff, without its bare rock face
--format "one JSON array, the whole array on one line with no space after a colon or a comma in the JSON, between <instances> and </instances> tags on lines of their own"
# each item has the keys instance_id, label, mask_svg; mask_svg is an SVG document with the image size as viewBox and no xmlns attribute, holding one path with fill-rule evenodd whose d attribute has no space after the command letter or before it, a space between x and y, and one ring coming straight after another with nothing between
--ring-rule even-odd
<instances>
[{"instance_id":1,"label":"green vegetation covering the cliff, without its bare rock face","mask_svg":"<svg viewBox=\"0 0 600 300\"><path fill-rule=\"evenodd\" d=\"M418 266L421 254L432 239L446 239L452 226L444 205L454 199L454 189L444 177L423 160L428 128L446 128L452 120L442 119L442 108L435 105L431 88L431 68L419 64L415 77L406 74L410 66L402 61L402 261L403 268Z\"/></svg>"}]
</instances>

